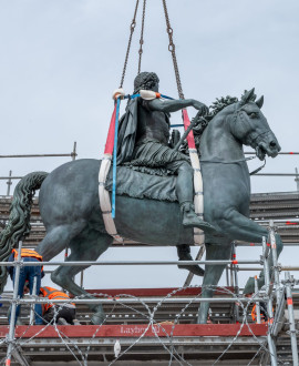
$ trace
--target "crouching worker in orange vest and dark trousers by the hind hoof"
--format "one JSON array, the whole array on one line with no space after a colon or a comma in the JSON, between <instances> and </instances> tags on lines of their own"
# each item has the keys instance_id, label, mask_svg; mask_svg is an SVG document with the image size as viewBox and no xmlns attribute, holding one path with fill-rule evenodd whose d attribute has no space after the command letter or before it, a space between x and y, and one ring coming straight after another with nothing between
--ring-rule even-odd
<instances>
[{"instance_id":1,"label":"crouching worker in orange vest and dark trousers by the hind hoof","mask_svg":"<svg viewBox=\"0 0 299 366\"><path fill-rule=\"evenodd\" d=\"M41 287L40 288L40 296L41 297L48 297L49 299L65 299L69 301L70 297L63 293L62 291L59 291L53 287ZM43 304L42 306L42 317L43 323L58 323L60 325L80 325L79 321L75 319L75 304L74 303L68 303L64 304Z\"/></svg>"}]
</instances>

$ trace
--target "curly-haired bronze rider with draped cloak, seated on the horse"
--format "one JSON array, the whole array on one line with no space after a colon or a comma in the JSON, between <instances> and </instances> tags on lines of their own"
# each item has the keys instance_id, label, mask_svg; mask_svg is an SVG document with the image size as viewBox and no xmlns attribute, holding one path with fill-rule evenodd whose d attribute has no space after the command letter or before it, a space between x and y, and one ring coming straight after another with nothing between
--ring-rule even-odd
<instances>
[{"instance_id":1,"label":"curly-haired bronze rider with draped cloak, seated on the horse","mask_svg":"<svg viewBox=\"0 0 299 366\"><path fill-rule=\"evenodd\" d=\"M158 77L154 72L141 72L134 81L134 94L140 90L158 92ZM189 157L169 148L169 113L194 106L202 114L208 112L205 104L194 100L132 99L118 130L117 164L130 162L133 166L164 167L177 175L176 195L185 227L199 227L214 232L214 227L200 220L193 204L193 167Z\"/></svg>"}]
</instances>

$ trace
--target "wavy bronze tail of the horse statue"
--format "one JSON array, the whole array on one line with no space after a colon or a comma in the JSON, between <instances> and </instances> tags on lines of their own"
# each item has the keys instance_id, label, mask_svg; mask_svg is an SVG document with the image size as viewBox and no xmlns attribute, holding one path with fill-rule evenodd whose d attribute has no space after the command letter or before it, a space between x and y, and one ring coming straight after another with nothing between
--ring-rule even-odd
<instances>
[{"instance_id":1,"label":"wavy bronze tail of the horse statue","mask_svg":"<svg viewBox=\"0 0 299 366\"><path fill-rule=\"evenodd\" d=\"M32 199L47 175L45 172L30 173L17 184L10 206L9 221L0 233L0 262L7 261L18 242L29 235ZM0 294L7 283L7 267L0 266Z\"/></svg>"}]
</instances>

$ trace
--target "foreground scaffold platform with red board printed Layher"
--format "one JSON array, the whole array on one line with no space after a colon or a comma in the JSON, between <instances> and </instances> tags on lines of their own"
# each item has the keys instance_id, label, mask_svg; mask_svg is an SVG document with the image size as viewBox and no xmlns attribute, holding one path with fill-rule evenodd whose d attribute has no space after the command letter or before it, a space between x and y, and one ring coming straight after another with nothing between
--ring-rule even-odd
<instances>
[{"instance_id":1,"label":"foreground scaffold platform with red board printed Layher","mask_svg":"<svg viewBox=\"0 0 299 366\"><path fill-rule=\"evenodd\" d=\"M134 345L117 360L117 364L166 365L169 360L169 352L164 347L174 346L184 360L196 366L210 365L213 360L216 360L233 343L240 329L238 324L179 324L174 329L172 325L161 324L154 325L155 332L151 327L146 331L147 327L146 324L103 325L101 327L95 325L56 326L61 337L64 337L64 342L61 342L53 326L44 331L42 331L43 326L31 326L30 328L17 326L16 337L22 336L18 349L22 358L25 358L28 364L32 366L41 365L41 363L48 365L53 362L55 365L60 363L78 365L79 363L74 360L68 346L79 359L80 353L85 354L87 352L89 365L92 362L109 365L115 358L113 348L116 339L120 339L122 352ZM259 343L265 343L267 326L255 324L250 328L251 332L247 326L244 326L238 338L226 353L224 359L229 359L230 365L247 365L258 352ZM39 333L40 331L42 332ZM7 332L8 327L1 326L0 337L6 336ZM256 336L255 339L252 333ZM143 334L142 339L138 339ZM2 357L6 355L6 346L0 347L0 355ZM47 355L47 362L44 355ZM173 365L176 363L174 362ZM258 364L254 363L252 365Z\"/></svg>"}]
</instances>

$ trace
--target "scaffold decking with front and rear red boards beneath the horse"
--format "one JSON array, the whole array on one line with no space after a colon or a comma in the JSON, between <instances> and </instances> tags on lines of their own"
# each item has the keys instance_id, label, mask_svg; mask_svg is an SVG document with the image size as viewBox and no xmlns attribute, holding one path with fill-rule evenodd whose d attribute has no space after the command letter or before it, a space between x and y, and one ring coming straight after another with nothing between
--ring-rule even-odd
<instances>
[{"instance_id":1,"label":"scaffold decking with front and rear red boards beneath the horse","mask_svg":"<svg viewBox=\"0 0 299 366\"><path fill-rule=\"evenodd\" d=\"M115 359L116 339L125 352L117 359L120 365L168 365L172 349L175 356L172 365L179 365L176 360L179 359L182 365L208 366L218 357L219 365L269 365L267 352L262 349L267 346L268 325L254 324L250 316L246 323L241 322L241 312L238 314L240 323L236 323L236 303L221 302L221 298L229 297L228 292L233 294L234 291L233 287L219 287L215 292L217 302L212 303L209 324L194 324L199 304L192 301L200 294L200 287L91 289L89 293L95 297L118 299L115 304L103 304L106 319L101 326L90 325L91 313L84 304L78 305L80 326L29 326L30 308L25 304L20 317L24 325L17 326L14 335L18 349L13 357L19 362L11 365L40 366L53 362L55 366L99 365L99 362L110 365ZM162 304L151 323L144 304L153 311L172 293L174 302ZM122 304L126 295L134 297L135 303ZM4 297L11 296L11 293L4 293ZM293 304L296 309L299 308L296 292ZM9 332L7 311L8 303L4 303L0 342ZM251 306L248 314L250 312ZM4 358L6 352L6 343L0 344L0 357ZM86 355L87 363L84 364L82 359ZM291 362L290 339L283 332L277 339L277 355L281 363Z\"/></svg>"}]
</instances>

